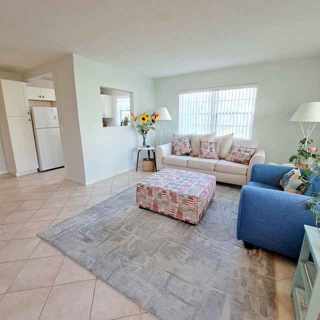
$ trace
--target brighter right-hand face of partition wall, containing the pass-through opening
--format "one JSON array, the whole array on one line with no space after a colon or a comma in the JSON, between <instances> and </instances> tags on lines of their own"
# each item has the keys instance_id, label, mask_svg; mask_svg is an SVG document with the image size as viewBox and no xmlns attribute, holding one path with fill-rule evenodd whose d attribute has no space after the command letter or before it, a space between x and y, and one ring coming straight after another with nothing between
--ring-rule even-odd
<instances>
[{"instance_id":1,"label":"brighter right-hand face of partition wall, containing the pass-through opening","mask_svg":"<svg viewBox=\"0 0 320 320\"><path fill-rule=\"evenodd\" d=\"M134 112L141 113L154 108L154 80L79 55L73 59L85 181L92 183L134 168L142 144L135 126L102 127L100 86L133 92Z\"/></svg>"}]
</instances>

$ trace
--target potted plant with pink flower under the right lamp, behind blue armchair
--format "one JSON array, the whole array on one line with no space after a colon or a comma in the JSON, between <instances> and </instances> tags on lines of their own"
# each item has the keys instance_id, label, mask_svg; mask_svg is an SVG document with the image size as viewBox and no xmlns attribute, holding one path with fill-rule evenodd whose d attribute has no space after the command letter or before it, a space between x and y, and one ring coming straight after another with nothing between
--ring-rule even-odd
<instances>
[{"instance_id":1,"label":"potted plant with pink flower under the right lamp, behind blue armchair","mask_svg":"<svg viewBox=\"0 0 320 320\"><path fill-rule=\"evenodd\" d=\"M309 146L313 142L312 139L308 140L304 138L299 141L297 153L293 154L289 158L289 162L292 162L298 167L310 168L313 160L315 159L314 164L320 165L320 153L317 153L317 147Z\"/></svg>"}]
</instances>

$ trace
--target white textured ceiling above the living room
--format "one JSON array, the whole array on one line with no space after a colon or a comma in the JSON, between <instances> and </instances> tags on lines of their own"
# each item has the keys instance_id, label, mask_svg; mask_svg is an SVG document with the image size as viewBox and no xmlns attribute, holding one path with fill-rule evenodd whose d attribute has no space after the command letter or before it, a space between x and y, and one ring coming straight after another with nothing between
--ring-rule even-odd
<instances>
[{"instance_id":1,"label":"white textured ceiling above the living room","mask_svg":"<svg viewBox=\"0 0 320 320\"><path fill-rule=\"evenodd\" d=\"M149 77L320 54L319 0L1 0L0 70L76 53Z\"/></svg>"}]
</instances>

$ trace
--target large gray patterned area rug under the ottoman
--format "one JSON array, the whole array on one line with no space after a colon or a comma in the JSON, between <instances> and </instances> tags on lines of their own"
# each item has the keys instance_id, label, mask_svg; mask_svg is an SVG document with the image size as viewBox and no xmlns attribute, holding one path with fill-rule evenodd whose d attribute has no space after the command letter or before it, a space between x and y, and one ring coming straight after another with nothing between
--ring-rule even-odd
<instances>
[{"instance_id":1,"label":"large gray patterned area rug under the ottoman","mask_svg":"<svg viewBox=\"0 0 320 320\"><path fill-rule=\"evenodd\" d=\"M192 226L132 186L38 235L159 319L275 319L273 254L236 240L239 191L217 183Z\"/></svg>"}]
</instances>

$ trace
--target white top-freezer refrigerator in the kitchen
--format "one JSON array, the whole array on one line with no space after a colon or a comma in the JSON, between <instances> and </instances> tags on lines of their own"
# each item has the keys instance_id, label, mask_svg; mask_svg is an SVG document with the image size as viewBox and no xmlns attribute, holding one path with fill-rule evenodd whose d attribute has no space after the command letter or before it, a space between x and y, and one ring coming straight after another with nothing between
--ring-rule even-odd
<instances>
[{"instance_id":1,"label":"white top-freezer refrigerator in the kitchen","mask_svg":"<svg viewBox=\"0 0 320 320\"><path fill-rule=\"evenodd\" d=\"M55 107L30 107L39 171L63 166L59 120Z\"/></svg>"}]
</instances>

